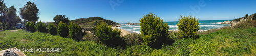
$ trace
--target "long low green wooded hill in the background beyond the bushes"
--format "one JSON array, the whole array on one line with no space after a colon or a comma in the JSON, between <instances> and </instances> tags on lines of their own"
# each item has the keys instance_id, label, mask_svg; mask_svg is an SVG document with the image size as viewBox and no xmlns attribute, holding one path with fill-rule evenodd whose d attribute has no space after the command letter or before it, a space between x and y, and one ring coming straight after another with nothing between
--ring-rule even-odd
<instances>
[{"instance_id":1,"label":"long low green wooded hill in the background beyond the bushes","mask_svg":"<svg viewBox=\"0 0 256 56\"><path fill-rule=\"evenodd\" d=\"M118 24L116 22L113 22L111 20L106 20L106 19L101 18L101 17L79 18L79 19L76 19L76 20L70 20L70 22L74 22L78 25L94 25L95 20L97 20L98 22L100 22L100 21L106 22L109 25Z\"/></svg>"}]
</instances>

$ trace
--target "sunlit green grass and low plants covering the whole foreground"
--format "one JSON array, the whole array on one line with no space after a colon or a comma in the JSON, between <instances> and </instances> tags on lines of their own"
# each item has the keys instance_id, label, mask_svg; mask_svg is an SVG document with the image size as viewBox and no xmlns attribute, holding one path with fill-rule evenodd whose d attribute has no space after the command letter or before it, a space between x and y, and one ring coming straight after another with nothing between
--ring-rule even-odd
<instances>
[{"instance_id":1,"label":"sunlit green grass and low plants covering the whole foreground","mask_svg":"<svg viewBox=\"0 0 256 56\"><path fill-rule=\"evenodd\" d=\"M168 38L174 43L153 49L140 40L141 35L124 36L126 47L107 47L94 40L74 41L49 33L0 32L0 50L17 47L61 48L61 52L24 52L26 55L256 55L256 28L231 28L201 32L197 39L180 39L178 33L171 32ZM84 37L87 37L84 36ZM141 39L141 38L140 38ZM128 41L129 40L129 41ZM136 44L130 44L136 43ZM128 45L129 44L129 45Z\"/></svg>"}]
</instances>

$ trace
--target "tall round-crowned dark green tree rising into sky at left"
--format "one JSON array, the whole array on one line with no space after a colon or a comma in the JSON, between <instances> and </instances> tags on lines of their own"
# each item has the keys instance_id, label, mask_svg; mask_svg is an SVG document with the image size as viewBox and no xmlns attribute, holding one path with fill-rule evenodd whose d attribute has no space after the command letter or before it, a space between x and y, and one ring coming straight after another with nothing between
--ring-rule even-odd
<instances>
[{"instance_id":1,"label":"tall round-crowned dark green tree rising into sky at left","mask_svg":"<svg viewBox=\"0 0 256 56\"><path fill-rule=\"evenodd\" d=\"M27 2L24 7L20 8L19 15L24 20L28 20L29 22L36 22L39 19L39 9L36 7L35 3Z\"/></svg>"}]
</instances>

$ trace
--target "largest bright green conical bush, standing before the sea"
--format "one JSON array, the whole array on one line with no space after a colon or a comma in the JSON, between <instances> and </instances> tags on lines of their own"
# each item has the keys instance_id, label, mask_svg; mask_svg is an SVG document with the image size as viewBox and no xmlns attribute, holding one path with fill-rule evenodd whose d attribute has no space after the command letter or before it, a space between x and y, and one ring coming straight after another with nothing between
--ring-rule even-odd
<instances>
[{"instance_id":1,"label":"largest bright green conical bush, standing before the sea","mask_svg":"<svg viewBox=\"0 0 256 56\"><path fill-rule=\"evenodd\" d=\"M161 47L166 42L168 33L168 23L163 23L163 19L150 13L144 15L140 20L141 34L144 42L153 48Z\"/></svg>"}]
</instances>

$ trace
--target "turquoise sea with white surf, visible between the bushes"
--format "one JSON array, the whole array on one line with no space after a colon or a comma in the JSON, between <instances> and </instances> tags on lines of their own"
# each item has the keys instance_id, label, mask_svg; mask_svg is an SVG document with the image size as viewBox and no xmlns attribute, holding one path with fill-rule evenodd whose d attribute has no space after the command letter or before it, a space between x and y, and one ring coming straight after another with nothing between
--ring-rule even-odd
<instances>
[{"instance_id":1,"label":"turquoise sea with white surf, visible between the bushes","mask_svg":"<svg viewBox=\"0 0 256 56\"><path fill-rule=\"evenodd\" d=\"M221 22L224 22L227 20L199 20L199 30L200 31L207 31L209 29L216 29L216 28L221 28L224 26L231 26L230 24L221 24ZM232 21L232 20L229 20ZM169 25L169 30L178 30L178 24L179 21L173 21L173 22L166 22ZM120 29L124 29L126 31L130 31L130 32L136 32L136 33L140 33L140 25L120 25L120 27L118 27Z\"/></svg>"}]
</instances>

